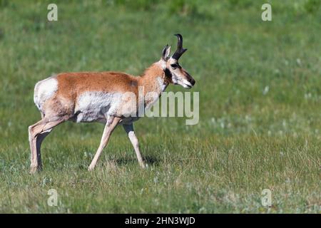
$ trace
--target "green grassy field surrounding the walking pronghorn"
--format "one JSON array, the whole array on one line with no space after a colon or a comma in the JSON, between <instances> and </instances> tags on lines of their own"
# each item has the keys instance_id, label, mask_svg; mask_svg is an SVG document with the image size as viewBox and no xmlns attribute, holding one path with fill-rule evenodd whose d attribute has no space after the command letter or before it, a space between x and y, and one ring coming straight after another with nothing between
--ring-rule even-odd
<instances>
[{"instance_id":1,"label":"green grassy field surrounding the walking pronghorn","mask_svg":"<svg viewBox=\"0 0 321 228\"><path fill-rule=\"evenodd\" d=\"M0 212L320 213L320 1L0 0ZM143 118L141 170L117 128L93 172L103 125L64 123L29 175L34 85L63 71L139 75L182 33L200 121ZM167 90L185 91L179 86ZM47 204L48 190L58 206ZM272 207L261 192L272 191Z\"/></svg>"}]
</instances>

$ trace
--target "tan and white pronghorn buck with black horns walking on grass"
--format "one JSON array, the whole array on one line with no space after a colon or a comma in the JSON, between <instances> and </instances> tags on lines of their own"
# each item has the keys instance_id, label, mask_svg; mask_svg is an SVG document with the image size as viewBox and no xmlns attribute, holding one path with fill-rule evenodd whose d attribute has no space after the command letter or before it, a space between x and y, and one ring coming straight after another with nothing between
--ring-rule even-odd
<instances>
[{"instance_id":1,"label":"tan and white pronghorn buck with black horns walking on grass","mask_svg":"<svg viewBox=\"0 0 321 228\"><path fill-rule=\"evenodd\" d=\"M178 48L170 56L170 46L163 49L161 60L153 63L142 76L131 76L120 72L59 73L36 83L34 103L41 113L41 120L29 126L31 149L31 173L41 170L41 142L51 130L66 120L105 123L101 143L88 170L93 170L106 147L116 125L123 125L133 144L139 165L145 167L138 139L133 130L133 121L138 120L138 90L143 94L161 95L168 84L178 84L191 88L195 80L178 64L178 59L187 50L183 48L183 38L178 37ZM136 99L123 98L131 93ZM149 108L155 100L144 99L143 108ZM134 104L134 105L133 105ZM132 108L128 115L128 107Z\"/></svg>"}]
</instances>

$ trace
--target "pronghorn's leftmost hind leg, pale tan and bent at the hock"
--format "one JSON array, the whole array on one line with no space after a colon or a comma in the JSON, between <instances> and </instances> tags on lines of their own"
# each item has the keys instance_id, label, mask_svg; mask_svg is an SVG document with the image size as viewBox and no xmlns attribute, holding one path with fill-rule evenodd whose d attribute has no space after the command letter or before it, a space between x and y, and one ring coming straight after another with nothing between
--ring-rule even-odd
<instances>
[{"instance_id":1,"label":"pronghorn's leftmost hind leg, pale tan and bent at the hock","mask_svg":"<svg viewBox=\"0 0 321 228\"><path fill-rule=\"evenodd\" d=\"M44 118L34 125L29 126L29 143L31 150L30 173L41 170L41 142L46 138L46 135L51 132L52 128L65 120L66 118L56 118L55 120Z\"/></svg>"}]
</instances>

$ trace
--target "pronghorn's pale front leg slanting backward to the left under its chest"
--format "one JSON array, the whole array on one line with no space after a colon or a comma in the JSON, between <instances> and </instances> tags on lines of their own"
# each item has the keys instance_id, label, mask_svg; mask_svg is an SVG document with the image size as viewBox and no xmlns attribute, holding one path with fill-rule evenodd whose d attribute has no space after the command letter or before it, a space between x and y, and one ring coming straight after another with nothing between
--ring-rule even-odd
<instances>
[{"instance_id":1,"label":"pronghorn's pale front leg slanting backward to the left under its chest","mask_svg":"<svg viewBox=\"0 0 321 228\"><path fill-rule=\"evenodd\" d=\"M91 165L89 165L88 167L89 171L93 170L93 168L95 167L96 162L101 155L101 152L103 151L103 148L106 147L108 140L111 137L111 133L113 133L113 130L116 128L120 120L121 118L108 116L107 123L105 125L105 128L103 129L101 144L98 147L95 157L93 157L93 160L91 161Z\"/></svg>"}]
</instances>

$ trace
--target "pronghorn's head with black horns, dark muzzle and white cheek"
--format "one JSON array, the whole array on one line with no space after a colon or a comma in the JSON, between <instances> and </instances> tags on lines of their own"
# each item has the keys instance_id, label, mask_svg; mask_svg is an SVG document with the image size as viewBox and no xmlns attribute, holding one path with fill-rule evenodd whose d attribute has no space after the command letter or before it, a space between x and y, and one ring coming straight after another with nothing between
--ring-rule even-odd
<instances>
[{"instance_id":1,"label":"pronghorn's head with black horns, dark muzzle and white cheek","mask_svg":"<svg viewBox=\"0 0 321 228\"><path fill-rule=\"evenodd\" d=\"M162 65L165 76L168 77L170 83L180 85L184 88L192 88L195 85L195 80L184 68L178 63L178 59L187 49L183 48L183 37L180 34L175 34L178 38L177 50L170 56L170 46L166 45L162 53Z\"/></svg>"}]
</instances>

